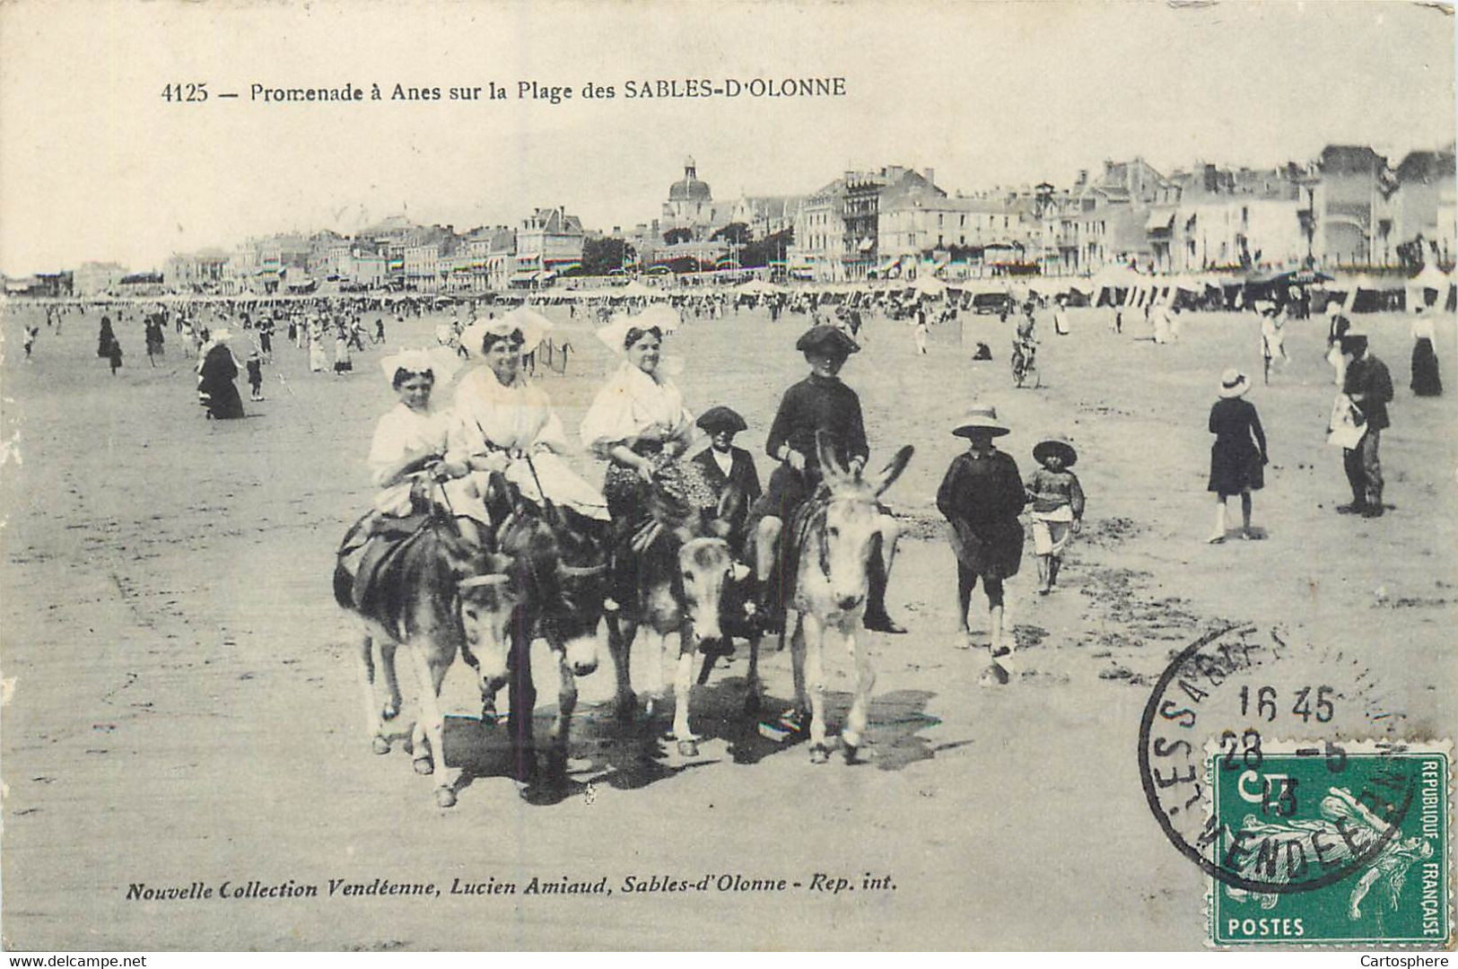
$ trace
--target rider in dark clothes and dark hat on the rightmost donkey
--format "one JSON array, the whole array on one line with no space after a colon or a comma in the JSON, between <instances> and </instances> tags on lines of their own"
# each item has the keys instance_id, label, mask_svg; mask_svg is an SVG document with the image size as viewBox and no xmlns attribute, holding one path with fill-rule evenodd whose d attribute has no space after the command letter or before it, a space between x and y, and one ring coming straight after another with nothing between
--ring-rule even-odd
<instances>
[{"instance_id":1,"label":"rider in dark clothes and dark hat on the rightmost donkey","mask_svg":"<svg viewBox=\"0 0 1458 969\"><path fill-rule=\"evenodd\" d=\"M838 460L853 472L865 468L870 453L860 417L860 398L840 380L846 360L860 347L835 326L812 326L796 341L795 348L805 354L811 373L780 399L765 446L770 458L780 465L770 475L770 487L754 513L758 608L767 628L783 628L784 608L793 592L790 584L798 545L795 526L809 517L800 509L816 495L821 485L816 434L827 436ZM790 530L781 541L786 525ZM886 577L897 538L894 530L884 530L870 557L865 627L873 632L905 632L886 613Z\"/></svg>"}]
</instances>

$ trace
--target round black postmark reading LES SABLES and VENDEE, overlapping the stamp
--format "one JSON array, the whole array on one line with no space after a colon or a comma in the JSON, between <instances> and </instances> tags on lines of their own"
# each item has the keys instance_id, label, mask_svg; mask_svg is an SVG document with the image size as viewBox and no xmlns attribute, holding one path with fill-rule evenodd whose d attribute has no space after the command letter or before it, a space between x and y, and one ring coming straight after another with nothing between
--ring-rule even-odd
<instances>
[{"instance_id":1,"label":"round black postmark reading LES SABLES and VENDEE, overlapping the stamp","mask_svg":"<svg viewBox=\"0 0 1458 969\"><path fill-rule=\"evenodd\" d=\"M1155 683L1139 726L1145 799L1181 854L1268 909L1365 879L1406 844L1424 765L1391 740L1401 721L1357 656L1226 625Z\"/></svg>"}]
</instances>

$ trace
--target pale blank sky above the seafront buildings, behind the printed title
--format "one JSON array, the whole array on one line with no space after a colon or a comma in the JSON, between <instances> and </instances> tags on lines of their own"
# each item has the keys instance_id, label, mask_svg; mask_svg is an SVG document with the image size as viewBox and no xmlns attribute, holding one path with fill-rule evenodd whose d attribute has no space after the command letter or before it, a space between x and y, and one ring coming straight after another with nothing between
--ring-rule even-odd
<instances>
[{"instance_id":1,"label":"pale blank sky above the seafront buildings, behind the printed title","mask_svg":"<svg viewBox=\"0 0 1458 969\"><path fill-rule=\"evenodd\" d=\"M844 77L838 98L627 98L627 82ZM573 99L518 98L521 82ZM506 101L449 101L458 87ZM206 85L208 101L163 99ZM262 103L252 85L383 101ZM392 102L394 85L442 101ZM583 99L585 85L614 99ZM217 98L236 92L236 99ZM1454 140L1454 17L1411 3L0 4L0 272L160 267L404 213L465 230L566 205L659 214L693 156L716 200L847 169L949 191L1104 159L1271 166L1328 143L1395 165Z\"/></svg>"}]
</instances>

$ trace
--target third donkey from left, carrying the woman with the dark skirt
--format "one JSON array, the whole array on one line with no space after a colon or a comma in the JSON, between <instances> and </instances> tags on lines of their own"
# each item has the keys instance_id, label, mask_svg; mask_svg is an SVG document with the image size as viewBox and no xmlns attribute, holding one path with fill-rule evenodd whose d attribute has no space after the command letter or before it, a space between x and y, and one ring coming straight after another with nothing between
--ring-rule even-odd
<instances>
[{"instance_id":1,"label":"third donkey from left, carrying the woman with the dark skirt","mask_svg":"<svg viewBox=\"0 0 1458 969\"><path fill-rule=\"evenodd\" d=\"M732 501L732 494L726 493L717 517L697 514L677 523L665 520L671 519L671 513L653 503L652 517L633 536L636 555L628 562L620 561L620 570L633 568L633 573L620 576L618 580L625 586L630 578L633 587L627 600L608 613L608 648L617 667L620 720L631 720L637 713L628 662L639 631L653 637L647 676L649 720L663 702L663 653L668 637L678 634L672 737L682 756L698 756L698 736L688 726L694 659L700 647L717 644L723 637L719 608L725 583L735 574L733 555L725 538L729 526L723 513ZM706 664L704 675L707 669Z\"/></svg>"}]
</instances>

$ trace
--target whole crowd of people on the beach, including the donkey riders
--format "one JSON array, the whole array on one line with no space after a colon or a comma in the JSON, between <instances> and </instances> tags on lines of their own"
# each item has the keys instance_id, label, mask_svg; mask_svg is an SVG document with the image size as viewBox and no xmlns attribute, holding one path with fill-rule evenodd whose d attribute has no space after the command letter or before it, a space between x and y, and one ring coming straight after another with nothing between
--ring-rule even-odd
<instances>
[{"instance_id":1,"label":"whole crowd of people on the beach, including the donkey riders","mask_svg":"<svg viewBox=\"0 0 1458 969\"><path fill-rule=\"evenodd\" d=\"M446 494L452 506L481 511L483 476L500 472L531 500L550 500L586 520L621 522L633 517L644 501L644 488L660 490L674 498L700 507L713 507L725 487L733 484L748 495L735 522L736 551L751 570L752 589L746 600L763 628L781 621L786 603L776 597L776 558L779 541L796 513L815 495L822 472L815 436L834 442L837 458L847 466L862 466L869 455L860 401L841 379L841 369L872 338L870 321L897 321L908 326L914 353L927 351L929 334L959 312L972 310L965 297L884 290L878 293L774 291L755 294L694 293L672 299L677 318L713 323L742 310L767 310L771 319L800 318L806 329L796 342L805 354L808 376L789 388L771 423L765 455L774 462L767 485L751 453L736 447L735 436L748 423L725 402L712 402L697 418L668 369L662 366L662 325L637 326L634 321L656 300L601 300L579 306L570 302L570 315L595 319L598 335L615 354L620 366L593 399L579 428L582 444L605 462L604 479L589 484L569 466L564 428L551 402L538 385L526 379L528 358L545 338L542 319L531 310L519 312L526 300L494 305L455 305L448 323L437 328L437 347L395 353L382 361L398 405L379 427L370 449L370 466L381 488L376 511L402 511L418 507L420 491L411 476L423 456L433 456L436 474L449 479ZM118 326L125 313L140 319L152 366L165 360L168 335L175 334L185 357L195 357L198 399L208 417L227 420L243 415L236 389L246 376L249 398L262 401L262 373L271 363L276 334L286 334L297 348L306 350L309 370L337 376L354 370L354 356L385 345L386 321L392 325L407 316L426 316L440 310L433 299L383 300L372 297L316 300L255 300L235 303L181 303L175 306L104 305L99 306L98 357L111 373L122 367ZM465 309L462 319L461 310ZM1181 337L1180 312L1168 302L1143 307L1153 342L1175 342ZM1263 383L1270 386L1290 364L1284 345L1286 326L1302 315L1295 305L1257 302L1260 318L1260 354ZM500 316L497 316L500 310ZM516 312L513 312L516 310ZM1051 315L1054 337L1069 335L1069 303L1063 297L1042 300L1028 296L1021 306L1003 305L1002 319L1016 315L1012 353L1032 356L1038 341L1038 321ZM1123 332L1126 306L1110 307L1111 325ZM85 306L51 307L45 323L60 332L70 313L85 315ZM1303 307L1309 313L1309 305ZM112 318L115 316L115 322ZM646 318L644 318L646 319ZM523 322L525 321L525 322ZM1343 449L1343 466L1352 501L1340 511L1378 517L1384 504L1381 462L1382 431L1391 424L1392 380L1387 364L1371 353L1368 335L1343 312L1340 303L1327 315L1327 361L1338 391L1328 427L1328 440ZM1413 356L1410 388L1414 395L1442 392L1439 360L1435 350L1433 313L1420 307L1413 315ZM249 344L239 358L236 334ZM25 328L26 360L39 335L38 325ZM327 347L332 342L332 354ZM974 360L990 358L986 344ZM455 369L474 364L462 377L451 408L432 402L437 380ZM1242 539L1261 538L1252 526L1252 495L1266 487L1270 463L1266 428L1255 405L1248 401L1251 379L1239 369L1222 373L1216 402L1210 408L1209 433L1215 436L1210 452L1207 490L1216 501L1212 544L1229 536L1226 503L1241 498ZM1018 574L1024 549L1024 523L1032 533L1037 555L1037 592L1057 589L1069 542L1082 527L1085 494L1072 468L1079 459L1075 444L1051 433L1032 449L1035 469L1024 479L1018 462L996 447L1007 433L991 405L974 405L951 433L967 439L968 446L946 469L937 490L936 506L948 519L956 561L959 643L967 644L968 611L978 583L987 599L990 646L994 654L1009 650L1002 628L1003 583ZM693 458L687 453L697 434L709 446ZM525 462L525 458L531 458ZM413 468L414 471L402 471ZM404 491L401 487L404 485ZM413 491L414 490L414 491ZM410 495L414 494L414 498ZM402 503L404 501L404 503ZM895 552L895 535L884 535L872 555L870 590L865 622L882 632L901 632L885 603L886 577Z\"/></svg>"}]
</instances>

